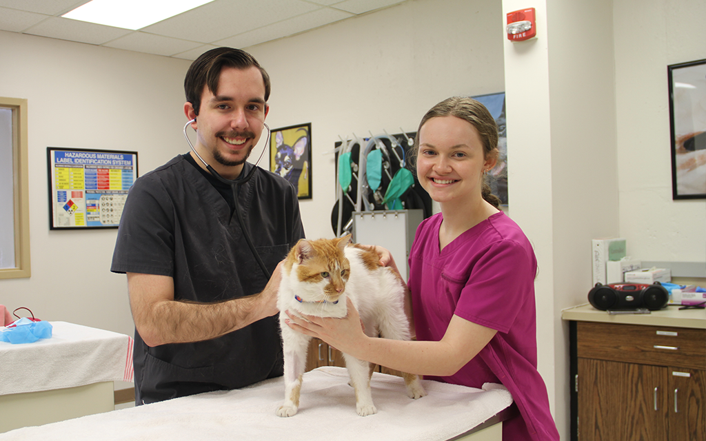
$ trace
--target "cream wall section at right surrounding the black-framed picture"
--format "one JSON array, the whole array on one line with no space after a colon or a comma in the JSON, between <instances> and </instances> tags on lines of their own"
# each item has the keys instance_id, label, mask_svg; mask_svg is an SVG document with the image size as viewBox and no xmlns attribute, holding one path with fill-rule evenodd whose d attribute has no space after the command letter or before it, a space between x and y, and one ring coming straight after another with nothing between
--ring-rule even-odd
<instances>
[{"instance_id":1,"label":"cream wall section at right surrounding the black-framed picture","mask_svg":"<svg viewBox=\"0 0 706 441\"><path fill-rule=\"evenodd\" d=\"M706 2L614 3L620 234L633 257L704 262L706 201L671 199L666 66L706 59Z\"/></svg>"}]
</instances>

